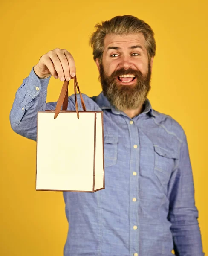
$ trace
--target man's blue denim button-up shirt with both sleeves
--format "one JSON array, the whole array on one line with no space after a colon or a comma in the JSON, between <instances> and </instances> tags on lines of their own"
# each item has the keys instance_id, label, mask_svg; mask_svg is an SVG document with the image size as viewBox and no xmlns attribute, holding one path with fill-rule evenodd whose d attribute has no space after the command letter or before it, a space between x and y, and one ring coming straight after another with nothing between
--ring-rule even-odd
<instances>
[{"instance_id":1,"label":"man's blue denim button-up shirt with both sleeves","mask_svg":"<svg viewBox=\"0 0 208 256\"><path fill-rule=\"evenodd\" d=\"M51 77L51 76L50 76ZM12 129L36 140L37 111L49 78L32 69L16 93ZM104 112L105 189L64 192L69 231L64 256L202 256L186 135L173 118L152 109L133 119L101 93L83 95L87 110ZM81 109L80 97L78 104ZM75 110L75 96L68 110ZM46 147L47 150L47 147ZM35 168L35 166L34 166Z\"/></svg>"}]
</instances>

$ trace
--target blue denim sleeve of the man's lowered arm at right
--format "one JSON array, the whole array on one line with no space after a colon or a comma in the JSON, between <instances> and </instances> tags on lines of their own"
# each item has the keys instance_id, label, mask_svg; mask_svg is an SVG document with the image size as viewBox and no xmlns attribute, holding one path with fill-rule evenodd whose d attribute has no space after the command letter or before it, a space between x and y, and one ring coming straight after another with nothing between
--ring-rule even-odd
<instances>
[{"instance_id":1,"label":"blue denim sleeve of the man's lowered arm at right","mask_svg":"<svg viewBox=\"0 0 208 256\"><path fill-rule=\"evenodd\" d=\"M204 256L185 134L179 152L178 165L169 184L171 189L168 220L172 224L174 250L177 256Z\"/></svg>"}]
</instances>

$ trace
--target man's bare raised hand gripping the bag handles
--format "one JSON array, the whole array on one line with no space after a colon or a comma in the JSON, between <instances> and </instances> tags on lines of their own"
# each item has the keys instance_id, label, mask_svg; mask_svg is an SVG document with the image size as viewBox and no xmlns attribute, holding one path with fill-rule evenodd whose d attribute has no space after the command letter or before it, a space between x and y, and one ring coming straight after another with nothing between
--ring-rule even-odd
<instances>
[{"instance_id":1,"label":"man's bare raised hand gripping the bag handles","mask_svg":"<svg viewBox=\"0 0 208 256\"><path fill-rule=\"evenodd\" d=\"M41 56L34 71L42 79L52 75L61 81L69 81L76 74L75 61L66 49L55 48Z\"/></svg>"}]
</instances>

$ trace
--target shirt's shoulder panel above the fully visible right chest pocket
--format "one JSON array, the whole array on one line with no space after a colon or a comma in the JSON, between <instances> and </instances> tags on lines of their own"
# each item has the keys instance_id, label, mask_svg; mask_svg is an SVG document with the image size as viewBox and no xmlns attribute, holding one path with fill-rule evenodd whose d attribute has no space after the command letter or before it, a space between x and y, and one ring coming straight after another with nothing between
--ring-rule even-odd
<instances>
[{"instance_id":1,"label":"shirt's shoulder panel above the fully visible right chest pocket","mask_svg":"<svg viewBox=\"0 0 208 256\"><path fill-rule=\"evenodd\" d=\"M160 126L165 132L175 135L179 141L185 138L185 131L182 125L176 121L172 116L156 111L153 109L154 121L156 125Z\"/></svg>"}]
</instances>

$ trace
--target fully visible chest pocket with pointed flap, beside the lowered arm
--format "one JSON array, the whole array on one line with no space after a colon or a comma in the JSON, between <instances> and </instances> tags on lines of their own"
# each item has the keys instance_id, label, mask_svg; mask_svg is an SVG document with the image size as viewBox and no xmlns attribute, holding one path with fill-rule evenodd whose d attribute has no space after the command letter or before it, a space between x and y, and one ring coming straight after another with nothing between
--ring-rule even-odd
<instances>
[{"instance_id":1,"label":"fully visible chest pocket with pointed flap, beside the lowered arm","mask_svg":"<svg viewBox=\"0 0 208 256\"><path fill-rule=\"evenodd\" d=\"M154 155L154 173L162 185L167 185L174 166L176 165L178 155L174 151L169 151L165 148L159 147L158 145L154 145Z\"/></svg>"}]
</instances>

